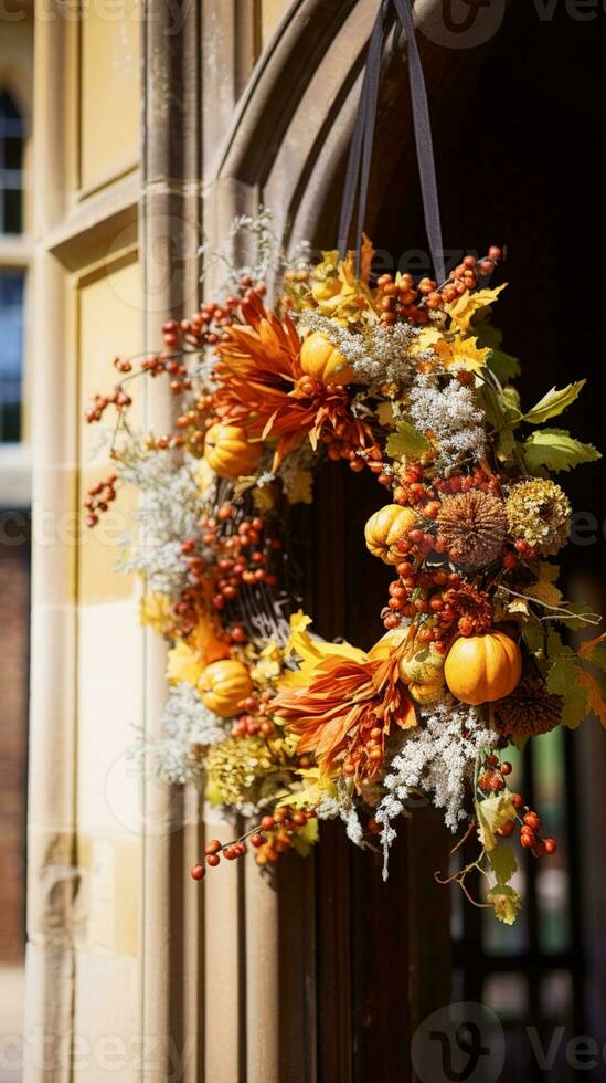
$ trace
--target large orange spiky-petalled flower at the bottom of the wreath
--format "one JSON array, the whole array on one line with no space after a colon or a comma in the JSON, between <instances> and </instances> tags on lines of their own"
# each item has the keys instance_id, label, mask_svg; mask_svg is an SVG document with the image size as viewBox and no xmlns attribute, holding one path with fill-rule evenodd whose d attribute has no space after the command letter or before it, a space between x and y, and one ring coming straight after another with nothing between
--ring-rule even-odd
<instances>
[{"instance_id":1,"label":"large orange spiky-petalled flower at the bottom of the wreath","mask_svg":"<svg viewBox=\"0 0 606 1083\"><path fill-rule=\"evenodd\" d=\"M331 654L315 666L308 687L281 691L273 707L297 734L298 753L313 753L323 775L363 781L383 766L395 727L416 725L414 704L398 680L402 650L387 659Z\"/></svg>"}]
</instances>

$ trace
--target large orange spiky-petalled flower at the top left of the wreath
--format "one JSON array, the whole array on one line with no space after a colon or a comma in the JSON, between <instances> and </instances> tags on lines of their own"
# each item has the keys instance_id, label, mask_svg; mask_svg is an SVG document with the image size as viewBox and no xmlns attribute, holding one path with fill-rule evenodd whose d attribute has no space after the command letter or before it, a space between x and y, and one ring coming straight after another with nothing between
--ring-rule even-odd
<instances>
[{"instance_id":1,"label":"large orange spiky-petalled flower at the top left of the wreath","mask_svg":"<svg viewBox=\"0 0 606 1083\"><path fill-rule=\"evenodd\" d=\"M274 469L309 435L334 445L334 458L372 445L372 432L349 410L343 387L306 375L301 340L288 315L280 320L258 297L243 302L246 324L230 328L219 347L213 406L222 421L246 429L252 439L277 438Z\"/></svg>"}]
</instances>

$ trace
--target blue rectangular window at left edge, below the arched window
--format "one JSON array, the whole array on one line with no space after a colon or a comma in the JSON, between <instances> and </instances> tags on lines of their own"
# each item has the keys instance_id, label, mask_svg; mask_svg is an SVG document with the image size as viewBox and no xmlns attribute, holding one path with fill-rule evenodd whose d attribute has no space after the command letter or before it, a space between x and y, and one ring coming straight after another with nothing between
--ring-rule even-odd
<instances>
[{"instance_id":1,"label":"blue rectangular window at left edge, below the arched window","mask_svg":"<svg viewBox=\"0 0 606 1083\"><path fill-rule=\"evenodd\" d=\"M0 271L0 443L21 439L22 271Z\"/></svg>"}]
</instances>

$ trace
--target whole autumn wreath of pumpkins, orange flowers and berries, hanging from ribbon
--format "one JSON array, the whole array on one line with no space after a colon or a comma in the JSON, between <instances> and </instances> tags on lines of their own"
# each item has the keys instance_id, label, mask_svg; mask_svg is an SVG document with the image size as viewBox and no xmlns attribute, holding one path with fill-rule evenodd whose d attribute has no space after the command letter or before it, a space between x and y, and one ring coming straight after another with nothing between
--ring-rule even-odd
<instances>
[{"instance_id":1,"label":"whole autumn wreath of pumpkins, orange flowers and berries, hanging from ribbon","mask_svg":"<svg viewBox=\"0 0 606 1083\"><path fill-rule=\"evenodd\" d=\"M375 280L368 240L359 276L337 252L312 264L302 246L288 262L266 211L230 242L238 233L256 254L230 267L224 298L164 324L161 353L116 359L115 390L87 411L116 414L115 473L91 490L87 524L118 486L140 491L121 566L142 577L142 621L170 643L164 736L141 740L142 758L249 824L210 841L194 880L248 847L259 865L305 854L332 818L382 848L386 875L395 823L425 793L478 841L445 881L470 897L480 870L471 901L511 924L511 842L538 859L556 843L510 788L507 746L574 728L588 708L606 724L604 637L576 651L562 638L599 618L564 601L553 560L571 506L551 475L598 458L551 424L583 381L522 408L518 361L491 323L497 248L438 287ZM131 430L139 374L167 380L172 432ZM365 543L393 581L368 653L312 634L293 587L289 507L312 501L326 460L378 482Z\"/></svg>"}]
</instances>

